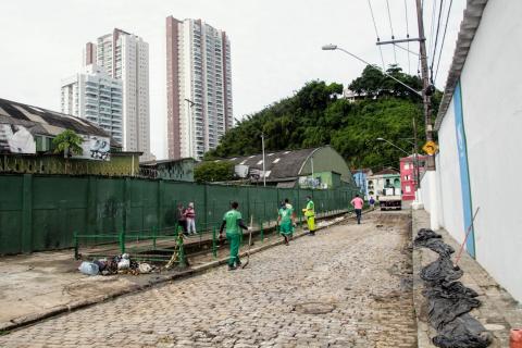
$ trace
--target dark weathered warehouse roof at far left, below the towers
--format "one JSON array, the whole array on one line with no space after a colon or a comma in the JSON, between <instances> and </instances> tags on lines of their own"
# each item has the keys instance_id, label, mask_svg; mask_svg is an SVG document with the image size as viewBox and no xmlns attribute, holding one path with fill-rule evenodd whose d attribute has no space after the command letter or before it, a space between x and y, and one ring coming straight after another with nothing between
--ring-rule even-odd
<instances>
[{"instance_id":1,"label":"dark weathered warehouse roof at far left, below the towers","mask_svg":"<svg viewBox=\"0 0 522 348\"><path fill-rule=\"evenodd\" d=\"M0 98L0 123L22 125L33 135L54 137L65 129L77 134L111 138L110 134L85 119ZM111 146L121 147L111 138Z\"/></svg>"}]
</instances>

